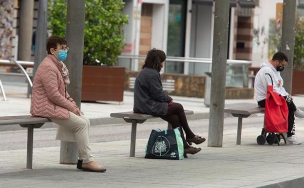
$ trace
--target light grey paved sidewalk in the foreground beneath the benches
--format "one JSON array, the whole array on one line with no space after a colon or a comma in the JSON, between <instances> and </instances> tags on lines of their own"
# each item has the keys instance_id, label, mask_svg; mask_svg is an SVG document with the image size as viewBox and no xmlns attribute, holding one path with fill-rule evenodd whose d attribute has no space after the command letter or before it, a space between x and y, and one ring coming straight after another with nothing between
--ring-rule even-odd
<instances>
[{"instance_id":1,"label":"light grey paved sidewalk in the foreground beneath the benches","mask_svg":"<svg viewBox=\"0 0 304 188\"><path fill-rule=\"evenodd\" d=\"M128 157L130 140L93 143L106 173L59 165L59 146L34 148L32 170L25 169L25 149L0 151L0 188L303 188L304 146L259 146L263 118L249 119L257 125L244 127L242 145L235 145L236 130L224 128L223 147L203 143L201 152L180 161L144 159L147 139L136 140L135 158ZM304 136L303 126L297 135Z\"/></svg>"}]
</instances>

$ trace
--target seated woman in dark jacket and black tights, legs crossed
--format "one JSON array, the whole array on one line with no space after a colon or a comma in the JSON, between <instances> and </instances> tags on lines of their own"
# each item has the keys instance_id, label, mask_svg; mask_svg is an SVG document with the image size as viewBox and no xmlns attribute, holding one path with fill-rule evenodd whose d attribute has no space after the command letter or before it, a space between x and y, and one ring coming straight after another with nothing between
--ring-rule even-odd
<instances>
[{"instance_id":1,"label":"seated woman in dark jacket and black tights, legs crossed","mask_svg":"<svg viewBox=\"0 0 304 188\"><path fill-rule=\"evenodd\" d=\"M148 52L143 69L135 80L133 111L159 116L169 122L173 128L180 127L184 142L184 156L187 158L187 153L195 154L201 150L200 147L191 147L189 144L191 145L192 142L201 144L206 139L191 131L183 106L173 103L171 97L164 92L159 72L165 60L166 54L161 50L153 48ZM186 139L182 130L186 133Z\"/></svg>"}]
</instances>

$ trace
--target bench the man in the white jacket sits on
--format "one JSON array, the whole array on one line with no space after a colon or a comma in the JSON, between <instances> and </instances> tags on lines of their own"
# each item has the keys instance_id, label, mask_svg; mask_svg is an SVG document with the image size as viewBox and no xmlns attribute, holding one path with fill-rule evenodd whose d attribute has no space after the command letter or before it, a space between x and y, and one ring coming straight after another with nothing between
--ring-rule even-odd
<instances>
[{"instance_id":1,"label":"bench the man in the white jacket sits on","mask_svg":"<svg viewBox=\"0 0 304 188\"><path fill-rule=\"evenodd\" d=\"M243 121L243 118L247 118L251 114L264 113L265 112L265 108L258 107L256 105L250 105L250 106L227 108L227 109L224 110L224 112L225 113L230 113L234 117L238 117L236 144L240 145L241 144L241 134L242 134L242 121Z\"/></svg>"}]
</instances>

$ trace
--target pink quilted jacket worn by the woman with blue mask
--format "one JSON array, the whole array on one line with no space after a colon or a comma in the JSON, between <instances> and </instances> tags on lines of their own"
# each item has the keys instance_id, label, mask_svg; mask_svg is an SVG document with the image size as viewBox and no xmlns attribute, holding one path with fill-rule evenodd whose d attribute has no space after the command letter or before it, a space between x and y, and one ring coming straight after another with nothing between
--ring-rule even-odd
<instances>
[{"instance_id":1,"label":"pink quilted jacket worn by the woman with blue mask","mask_svg":"<svg viewBox=\"0 0 304 188\"><path fill-rule=\"evenodd\" d=\"M31 114L45 118L68 119L74 101L66 92L62 64L54 55L47 55L39 65L34 78Z\"/></svg>"}]
</instances>

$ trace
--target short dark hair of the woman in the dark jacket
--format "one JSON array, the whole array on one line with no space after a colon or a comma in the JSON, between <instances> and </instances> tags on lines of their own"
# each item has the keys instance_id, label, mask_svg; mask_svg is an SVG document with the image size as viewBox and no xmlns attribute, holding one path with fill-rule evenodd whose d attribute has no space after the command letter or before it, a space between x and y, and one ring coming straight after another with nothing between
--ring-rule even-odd
<instances>
[{"instance_id":1,"label":"short dark hair of the woman in the dark jacket","mask_svg":"<svg viewBox=\"0 0 304 188\"><path fill-rule=\"evenodd\" d=\"M147 58L145 60L145 64L142 68L152 68L160 71L162 68L161 63L166 60L166 54L162 50L157 50L153 48L148 52Z\"/></svg>"}]
</instances>

